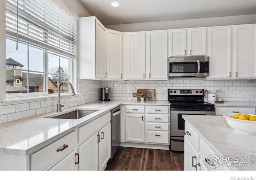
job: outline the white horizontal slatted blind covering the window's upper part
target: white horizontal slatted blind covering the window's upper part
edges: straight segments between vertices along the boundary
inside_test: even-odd
[[[76,57],[76,18],[54,0],[6,0],[6,36]]]

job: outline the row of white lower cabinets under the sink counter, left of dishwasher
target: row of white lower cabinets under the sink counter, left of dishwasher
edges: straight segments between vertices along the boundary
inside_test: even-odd
[[[104,170],[111,154],[110,112],[30,155],[30,170]]]

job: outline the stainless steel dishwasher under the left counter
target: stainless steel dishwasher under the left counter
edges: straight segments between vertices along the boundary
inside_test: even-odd
[[[111,110],[111,159],[120,146],[120,120],[121,106]]]

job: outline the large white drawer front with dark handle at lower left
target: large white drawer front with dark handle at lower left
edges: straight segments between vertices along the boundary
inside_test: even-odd
[[[31,154],[31,170],[48,170],[58,160],[66,156],[70,150],[74,149],[78,143],[77,137],[78,133],[77,130],[75,130],[45,148]],[[64,144],[66,146],[64,146]],[[57,149],[62,150],[57,151]]]

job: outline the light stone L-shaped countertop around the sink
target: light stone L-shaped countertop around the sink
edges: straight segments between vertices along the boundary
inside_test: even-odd
[[[110,100],[97,101],[72,108],[62,112],[50,112],[39,116],[0,124],[0,153],[31,154],[40,148],[58,140],[75,129],[92,122],[96,118],[110,112],[120,104],[125,105],[170,105],[168,101],[133,101]],[[77,108],[98,110],[78,120],[44,118],[53,114],[63,114]]]

